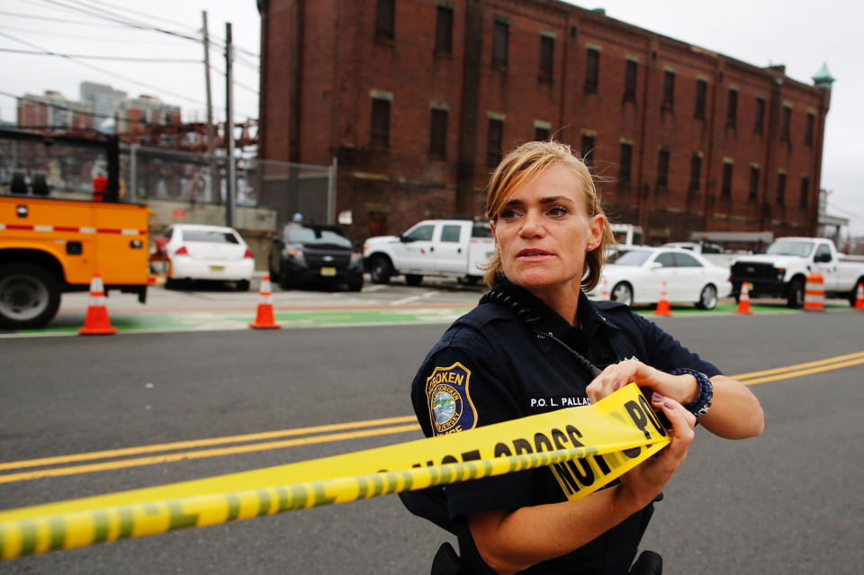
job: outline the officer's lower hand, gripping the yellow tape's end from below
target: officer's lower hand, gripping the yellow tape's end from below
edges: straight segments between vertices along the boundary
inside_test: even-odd
[[[687,450],[696,436],[693,431],[696,417],[678,401],[655,392],[652,404],[654,409],[662,409],[669,418],[671,429],[667,430],[667,433],[671,442],[653,457],[621,476],[622,490],[626,497],[635,499],[642,507],[653,501],[663,490],[663,486],[687,457]]]

